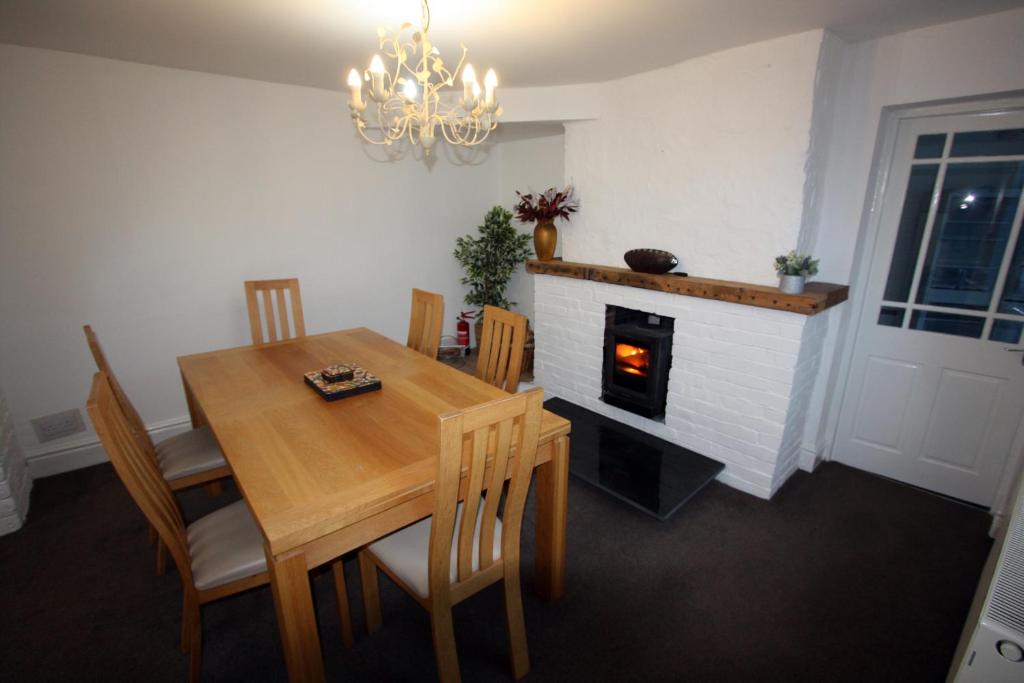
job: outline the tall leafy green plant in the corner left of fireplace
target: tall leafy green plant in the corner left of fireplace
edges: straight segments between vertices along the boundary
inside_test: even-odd
[[[469,286],[466,303],[470,306],[515,305],[505,297],[512,273],[529,258],[529,234],[512,226],[512,212],[496,206],[477,227],[479,237],[466,234],[455,241],[455,258],[466,271],[463,285]],[[476,343],[480,343],[483,317],[476,318]]]

